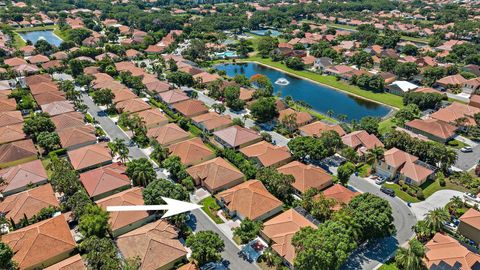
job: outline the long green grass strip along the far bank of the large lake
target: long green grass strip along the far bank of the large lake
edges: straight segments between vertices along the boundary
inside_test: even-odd
[[[400,96],[390,94],[390,93],[374,93],[372,91],[363,90],[355,85],[350,85],[348,83],[338,81],[334,76],[325,76],[318,73],[314,73],[311,71],[306,70],[293,70],[291,68],[286,67],[281,62],[274,62],[269,58],[261,58],[257,56],[252,56],[247,59],[246,61],[253,61],[258,62],[260,64],[264,64],[266,66],[270,66],[273,68],[280,69],[284,72],[288,72],[292,75],[296,75],[298,77],[303,77],[306,79],[310,79],[312,81],[328,85],[333,88],[337,88],[339,90],[351,93],[353,95],[357,95],[366,99],[370,99],[372,101],[376,101],[382,104],[389,105],[395,108],[402,108],[403,107],[403,99]]]

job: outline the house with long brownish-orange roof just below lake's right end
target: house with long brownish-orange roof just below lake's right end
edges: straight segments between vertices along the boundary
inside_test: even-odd
[[[457,130],[454,125],[432,118],[414,119],[406,122],[405,128],[439,143],[447,143],[452,140]]]

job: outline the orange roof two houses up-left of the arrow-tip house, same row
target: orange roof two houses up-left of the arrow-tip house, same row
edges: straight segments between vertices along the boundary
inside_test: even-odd
[[[197,164],[215,157],[214,152],[198,137],[173,144],[168,150],[170,155],[180,157],[185,165]]]

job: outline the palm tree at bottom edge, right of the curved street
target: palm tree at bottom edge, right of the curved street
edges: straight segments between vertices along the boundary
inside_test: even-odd
[[[395,255],[395,262],[400,269],[405,270],[421,270],[425,269],[423,264],[423,256],[425,255],[425,249],[423,245],[416,239],[409,242],[410,247],[399,248]]]

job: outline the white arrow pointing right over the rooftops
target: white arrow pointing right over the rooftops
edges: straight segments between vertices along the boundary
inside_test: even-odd
[[[178,215],[183,212],[192,211],[202,208],[201,205],[193,204],[189,202],[174,200],[170,198],[162,197],[167,203],[163,205],[125,205],[125,206],[107,206],[108,212],[122,212],[122,211],[158,211],[167,210],[162,218]]]

